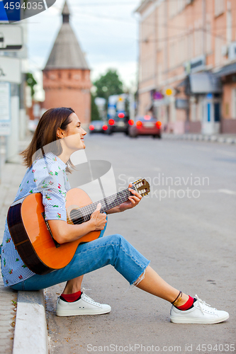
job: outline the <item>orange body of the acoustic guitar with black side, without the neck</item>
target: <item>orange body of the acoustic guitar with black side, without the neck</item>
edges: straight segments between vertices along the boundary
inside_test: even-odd
[[[55,244],[44,219],[41,193],[28,195],[23,202],[13,203],[9,208],[9,232],[21,259],[36,274],[47,274],[64,268],[73,258],[77,246],[82,242],[98,239],[101,231],[89,232],[77,241]],[[84,190],[72,188],[67,192],[67,222],[73,224],[72,210],[91,204]]]

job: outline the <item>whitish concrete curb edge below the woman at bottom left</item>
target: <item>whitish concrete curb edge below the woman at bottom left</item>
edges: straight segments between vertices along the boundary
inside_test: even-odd
[[[13,354],[48,354],[43,290],[19,291]]]

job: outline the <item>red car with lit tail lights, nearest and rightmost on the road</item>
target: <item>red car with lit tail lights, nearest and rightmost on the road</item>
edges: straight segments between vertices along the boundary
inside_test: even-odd
[[[128,135],[137,137],[137,135],[152,135],[152,137],[161,138],[162,122],[159,122],[150,115],[138,116],[135,120],[128,121]]]

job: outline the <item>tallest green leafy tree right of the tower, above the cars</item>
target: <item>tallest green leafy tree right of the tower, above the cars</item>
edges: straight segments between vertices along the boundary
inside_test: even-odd
[[[96,87],[96,97],[105,98],[106,103],[108,103],[109,96],[123,93],[123,83],[115,69],[108,69],[105,75],[101,75],[94,82],[94,86]]]

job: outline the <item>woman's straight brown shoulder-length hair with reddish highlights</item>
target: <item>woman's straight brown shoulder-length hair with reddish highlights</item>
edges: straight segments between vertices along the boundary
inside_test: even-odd
[[[69,117],[72,113],[74,113],[72,108],[65,107],[50,108],[43,113],[32,141],[29,146],[21,152],[23,162],[27,167],[32,165],[33,158],[36,159],[38,156],[42,155],[42,149],[43,154],[49,151],[57,156],[62,154],[62,147],[58,142],[60,138],[57,137],[57,129],[61,128],[62,130],[67,130],[67,125],[72,121]],[[53,142],[55,142],[55,144],[53,144]],[[50,147],[50,150],[48,150],[47,147]],[[74,167],[70,159],[67,164]]]

